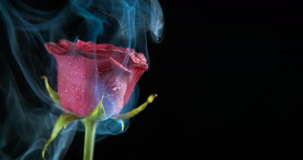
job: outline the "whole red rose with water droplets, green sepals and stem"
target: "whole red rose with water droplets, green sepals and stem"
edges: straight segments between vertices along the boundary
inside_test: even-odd
[[[148,68],[144,54],[136,53],[134,49],[93,42],[72,43],[65,39],[57,44],[46,43],[45,47],[56,58],[58,68],[58,93],[49,86],[47,77],[42,76],[46,90],[55,103],[61,103],[71,112],[61,114],[54,122],[42,151],[44,159],[48,145],[60,130],[79,119],[85,126],[84,159],[92,159],[92,144],[99,120],[109,117],[119,121],[123,131],[123,119],[140,113],[157,96],[152,94],[136,109],[118,115]]]

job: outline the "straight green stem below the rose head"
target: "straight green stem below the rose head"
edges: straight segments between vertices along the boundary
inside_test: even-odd
[[[83,119],[85,125],[85,139],[84,139],[84,155],[83,160],[93,159],[94,136],[96,133],[97,121]]]

